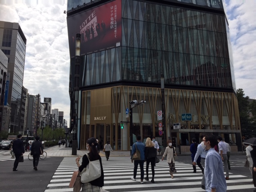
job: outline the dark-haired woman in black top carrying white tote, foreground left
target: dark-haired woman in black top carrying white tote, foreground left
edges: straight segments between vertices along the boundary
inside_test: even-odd
[[[90,161],[100,160],[101,176],[93,181],[82,184],[82,192],[100,192],[104,186],[104,172],[101,162],[101,157],[98,154],[96,146],[98,145],[96,138],[91,137],[86,142],[86,149],[89,151],[88,156]],[[89,164],[89,159],[85,154],[82,158],[82,164],[79,164],[80,157],[76,158],[76,164],[80,172]]]

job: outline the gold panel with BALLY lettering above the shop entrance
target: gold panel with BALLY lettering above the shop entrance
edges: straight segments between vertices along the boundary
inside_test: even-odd
[[[109,123],[111,114],[111,88],[92,90],[90,123]]]

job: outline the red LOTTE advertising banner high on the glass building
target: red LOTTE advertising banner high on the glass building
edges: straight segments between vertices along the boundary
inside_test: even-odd
[[[121,46],[121,0],[67,18],[70,57],[75,56],[76,34],[81,34],[81,56]]]

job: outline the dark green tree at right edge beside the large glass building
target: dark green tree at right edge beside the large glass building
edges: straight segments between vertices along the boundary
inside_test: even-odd
[[[250,102],[248,101],[249,97],[244,96],[244,91],[241,88],[236,90],[236,95],[238,101],[242,136],[244,136],[245,138],[255,137],[255,126],[253,126],[250,119]]]

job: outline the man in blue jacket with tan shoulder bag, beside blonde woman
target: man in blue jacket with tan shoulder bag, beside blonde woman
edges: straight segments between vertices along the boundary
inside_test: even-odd
[[[134,170],[133,170],[133,177],[132,180],[136,181],[136,175],[137,175],[137,169],[138,165],[140,164],[140,183],[143,184],[143,178],[144,178],[144,160],[145,160],[145,144],[141,142],[141,136],[138,135],[136,137],[137,142],[132,145],[132,156],[137,150],[140,151],[140,160],[132,160],[134,162]],[[131,159],[132,159],[131,156]]]

